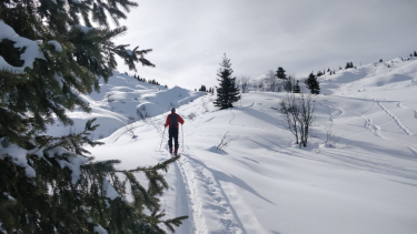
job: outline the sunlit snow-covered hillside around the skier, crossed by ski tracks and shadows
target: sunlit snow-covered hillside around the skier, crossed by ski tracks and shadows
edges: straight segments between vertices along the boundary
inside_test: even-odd
[[[133,123],[137,138],[121,128],[89,150],[97,160],[121,160],[126,169],[163,161],[170,155],[162,112],[169,102],[182,104],[182,156],[167,173],[170,189],[161,197],[169,216],[190,216],[178,233],[414,234],[417,60],[393,61],[390,68],[377,63],[320,78],[326,95],[317,96],[307,149],[292,145],[274,109],[284,93],[245,93],[236,108],[219,111],[212,95],[110,82],[102,90],[116,101],[91,96],[92,115],[108,118],[106,128],[141,105],[152,118]],[[111,106],[118,115],[100,112]],[[325,145],[330,126],[338,138],[332,147]],[[218,151],[227,132],[232,141]]]

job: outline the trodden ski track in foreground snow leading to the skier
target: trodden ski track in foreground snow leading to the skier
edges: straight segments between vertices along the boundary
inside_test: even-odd
[[[216,233],[222,234],[246,233],[220,182],[210,170],[188,154],[182,154],[177,164],[189,199],[195,233],[209,233],[210,227],[218,227]]]

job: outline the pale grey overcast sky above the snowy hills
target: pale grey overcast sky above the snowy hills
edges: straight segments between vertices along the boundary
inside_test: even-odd
[[[153,49],[137,74],[161,84],[218,84],[226,52],[235,75],[309,72],[406,57],[417,50],[417,0],[138,0],[117,43]],[[119,62],[120,71],[128,68]]]

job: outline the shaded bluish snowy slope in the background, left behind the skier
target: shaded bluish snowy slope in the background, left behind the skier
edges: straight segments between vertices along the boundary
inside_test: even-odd
[[[57,122],[49,128],[49,134],[62,135],[70,131],[83,130],[86,122],[97,118],[96,124],[100,126],[95,131],[93,139],[109,136],[116,130],[125,126],[129,121],[141,120],[142,116],[156,116],[193,101],[203,95],[201,92],[192,92],[179,87],[166,89],[161,85],[140,82],[127,74],[113,71],[108,83],[100,81],[100,92],[89,95],[80,94],[91,106],[91,113],[73,111],[69,116],[73,120],[72,126],[62,126]]]

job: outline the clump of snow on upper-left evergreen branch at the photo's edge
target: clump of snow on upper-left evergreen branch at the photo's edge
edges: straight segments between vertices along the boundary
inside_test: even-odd
[[[0,20],[0,42],[4,39],[14,41],[14,48],[26,48],[24,52],[20,54],[20,59],[24,62],[22,67],[13,67],[0,55],[0,70],[8,70],[16,74],[21,74],[26,68],[33,68],[36,59],[44,59],[36,41],[19,37],[10,26]]]

